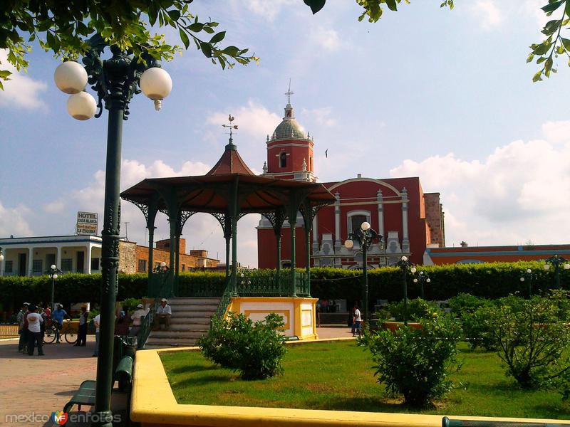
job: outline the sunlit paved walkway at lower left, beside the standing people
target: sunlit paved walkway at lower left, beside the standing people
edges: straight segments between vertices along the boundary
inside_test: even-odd
[[[94,341],[93,336],[88,337],[86,347],[66,342],[45,344],[45,356],[37,356],[37,350],[28,356],[18,352],[17,339],[1,340],[0,425],[53,426],[42,418],[61,411],[83,380],[95,379],[97,358],[91,357]],[[10,418],[13,415],[28,419],[14,422]],[[35,419],[30,418],[34,415]]]

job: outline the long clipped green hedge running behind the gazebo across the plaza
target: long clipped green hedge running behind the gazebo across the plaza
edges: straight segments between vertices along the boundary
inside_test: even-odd
[[[499,298],[514,292],[526,295],[527,282],[520,281],[521,273],[531,268],[537,274],[533,281],[534,292],[554,288],[554,268],[544,270],[539,262],[453,264],[418,268],[430,275],[431,283],[425,285],[427,300],[446,300],[459,292],[467,292],[489,298]],[[258,273],[259,275],[259,273]],[[224,273],[180,273],[179,294],[185,290],[220,288]],[[560,271],[561,287],[570,288],[570,270]],[[56,280],[55,300],[68,307],[71,302],[98,303],[100,299],[100,274],[61,275]],[[313,268],[311,270],[311,295],[322,299],[346,299],[349,303],[362,300],[362,270],[338,268]],[[375,300],[400,300],[403,295],[403,273],[398,268],[376,268],[368,271],[368,297]],[[3,311],[14,311],[21,302],[47,302],[51,292],[48,276],[35,278],[0,277],[0,303]],[[140,298],[147,293],[146,274],[120,274],[118,300]],[[420,286],[408,276],[408,297],[418,297]]]

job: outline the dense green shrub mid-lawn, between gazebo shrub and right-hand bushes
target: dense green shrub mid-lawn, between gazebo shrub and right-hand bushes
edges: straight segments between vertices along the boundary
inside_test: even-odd
[[[420,320],[423,329],[366,332],[361,343],[373,354],[374,375],[390,395],[403,395],[410,406],[426,407],[452,389],[449,374],[461,336],[458,322],[447,316]]]

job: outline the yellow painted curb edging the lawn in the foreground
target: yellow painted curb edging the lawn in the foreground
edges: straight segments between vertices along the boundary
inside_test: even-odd
[[[165,369],[162,366],[159,352],[187,351],[196,348],[137,352],[133,396],[130,404],[130,419],[132,421],[141,423],[143,427],[169,425],[202,427],[441,426],[443,415],[177,404],[172,389],[170,389]],[[464,420],[558,423],[570,426],[570,421],[561,420],[448,416],[452,419]]]

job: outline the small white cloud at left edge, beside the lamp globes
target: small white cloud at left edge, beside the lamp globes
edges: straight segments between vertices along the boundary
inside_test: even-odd
[[[16,68],[8,63],[6,49],[0,49],[0,69],[11,71],[11,80],[4,82],[4,91],[0,90],[0,107],[19,107],[26,110],[46,110],[47,104],[40,93],[47,88],[45,82],[33,80],[16,71]]]

